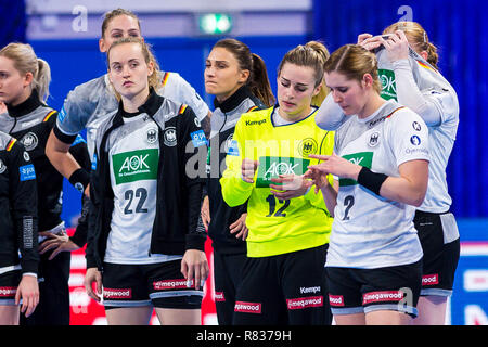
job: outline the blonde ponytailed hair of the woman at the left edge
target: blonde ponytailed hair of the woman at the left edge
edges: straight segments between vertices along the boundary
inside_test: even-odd
[[[15,69],[22,75],[33,74],[33,89],[37,90],[39,101],[46,103],[49,97],[51,68],[44,60],[36,56],[33,47],[28,43],[9,43],[0,50],[0,56],[13,61]]]

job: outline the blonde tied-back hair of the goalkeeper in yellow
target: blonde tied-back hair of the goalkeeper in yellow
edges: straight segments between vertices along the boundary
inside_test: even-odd
[[[278,76],[280,76],[282,68],[286,63],[311,67],[314,72],[314,87],[322,85],[320,92],[312,98],[311,104],[314,106],[320,106],[325,97],[329,94],[329,88],[325,87],[325,82],[323,80],[324,64],[329,56],[329,50],[322,42],[309,41],[305,46],[298,44],[288,51],[281,61],[278,67]]]

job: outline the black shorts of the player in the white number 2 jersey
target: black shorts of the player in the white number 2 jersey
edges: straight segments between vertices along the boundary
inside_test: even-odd
[[[377,269],[325,269],[333,314],[395,310],[416,317],[422,260]]]

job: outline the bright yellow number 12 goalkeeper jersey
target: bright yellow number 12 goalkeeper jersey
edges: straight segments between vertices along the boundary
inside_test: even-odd
[[[310,154],[331,155],[334,133],[316,125],[317,108],[306,118],[274,125],[274,107],[243,114],[227,144],[226,170],[220,179],[229,206],[247,202],[248,257],[268,257],[321,246],[329,242],[333,218],[322,193],[313,187],[303,196],[278,200],[269,179],[280,174],[301,175],[314,165]],[[241,176],[244,158],[259,160],[254,183]],[[332,176],[329,177],[332,183]]]

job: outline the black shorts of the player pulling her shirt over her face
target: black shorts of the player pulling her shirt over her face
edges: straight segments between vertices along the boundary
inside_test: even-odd
[[[450,296],[461,247],[454,216],[418,210],[413,222],[424,252],[421,295]]]

